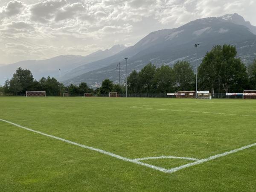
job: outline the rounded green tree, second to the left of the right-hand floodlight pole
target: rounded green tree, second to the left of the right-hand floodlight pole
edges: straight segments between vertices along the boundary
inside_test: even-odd
[[[157,93],[172,93],[174,92],[174,73],[169,65],[162,65],[156,69],[154,75],[154,87]]]

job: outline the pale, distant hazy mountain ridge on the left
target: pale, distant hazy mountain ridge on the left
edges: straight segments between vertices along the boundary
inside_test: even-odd
[[[110,49],[98,50],[87,56],[81,55],[59,55],[50,59],[45,60],[27,60],[19,61],[13,64],[0,64],[0,84],[3,84],[6,79],[12,78],[13,73],[17,70],[18,67],[23,69],[29,69],[35,79],[41,79],[41,77],[54,76],[58,77],[59,69],[61,69],[61,74],[68,73],[68,71],[79,67],[85,66],[93,61],[98,61],[103,58],[115,55],[116,53],[122,51],[126,47],[124,45],[114,45]],[[93,70],[94,68],[89,69]],[[83,72],[85,73],[85,72]],[[69,73],[68,73],[69,74]],[[68,76],[75,77],[78,74],[82,73],[72,73]]]

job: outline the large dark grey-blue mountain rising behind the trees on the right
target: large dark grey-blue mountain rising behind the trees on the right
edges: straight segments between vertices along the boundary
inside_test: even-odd
[[[119,62],[125,64],[123,59],[125,57],[128,57],[128,73],[134,69],[140,70],[148,62],[157,66],[161,64],[172,66],[178,60],[191,62],[195,69],[196,49],[193,47],[195,43],[201,44],[198,47],[199,59],[216,44],[232,44],[236,45],[238,56],[242,61],[249,63],[255,57],[256,35],[245,24],[248,23],[241,25],[234,23],[234,20],[231,22],[221,17],[207,17],[190,21],[175,29],[151,32],[134,46],[91,63],[94,66],[104,63],[105,67],[83,73],[76,78],[66,80],[65,83],[79,84],[81,81],[86,81],[93,85],[107,78],[117,82],[118,76],[114,69]],[[124,74],[122,77],[124,78]]]

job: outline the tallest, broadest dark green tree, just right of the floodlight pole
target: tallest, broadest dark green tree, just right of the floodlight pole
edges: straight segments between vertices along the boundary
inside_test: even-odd
[[[219,92],[241,92],[248,86],[245,65],[236,58],[236,47],[230,45],[215,46],[208,52],[198,67],[199,86],[210,87],[212,94]]]

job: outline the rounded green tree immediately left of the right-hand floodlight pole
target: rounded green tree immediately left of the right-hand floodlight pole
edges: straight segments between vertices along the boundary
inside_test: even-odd
[[[195,90],[195,74],[188,61],[177,61],[173,66],[175,86],[180,91]]]

